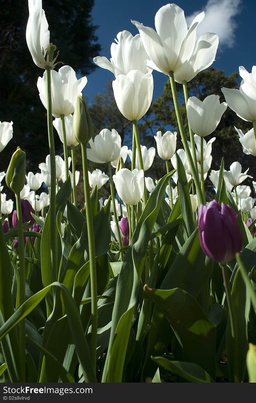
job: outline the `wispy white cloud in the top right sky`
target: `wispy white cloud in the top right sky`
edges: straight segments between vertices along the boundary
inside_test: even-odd
[[[204,11],[205,17],[197,28],[198,36],[206,32],[216,33],[219,35],[220,46],[231,48],[235,42],[235,29],[237,28],[234,17],[239,14],[240,9],[241,0],[208,0],[202,10],[189,15],[186,21],[190,25],[194,17],[200,11]]]

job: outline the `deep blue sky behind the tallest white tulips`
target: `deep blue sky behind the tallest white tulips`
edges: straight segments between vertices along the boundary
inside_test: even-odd
[[[154,28],[155,14],[165,4],[167,2],[159,0],[95,0],[92,17],[93,23],[99,25],[96,34],[102,46],[100,55],[96,56],[110,58],[110,46],[119,31],[126,29],[133,35],[138,33],[131,19]],[[255,0],[179,0],[176,4],[183,8],[187,21],[195,13],[205,11],[205,19],[200,24],[201,33],[214,32],[220,39],[213,67],[224,70],[226,74],[238,72],[240,65],[251,71],[256,64]],[[155,100],[162,93],[167,77],[157,71],[153,72],[153,77]],[[108,80],[114,79],[114,75],[98,67],[87,78],[84,93],[90,102],[96,93],[104,93],[104,87]]]

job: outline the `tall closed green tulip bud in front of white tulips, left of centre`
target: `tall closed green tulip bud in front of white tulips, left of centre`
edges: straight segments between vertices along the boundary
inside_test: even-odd
[[[73,115],[73,133],[79,143],[86,144],[93,135],[92,119],[83,98],[79,95],[75,101]]]

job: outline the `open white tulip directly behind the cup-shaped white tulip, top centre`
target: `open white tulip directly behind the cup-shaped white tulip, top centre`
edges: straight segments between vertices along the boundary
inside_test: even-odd
[[[139,70],[144,74],[151,71],[145,64],[148,55],[140,35],[133,37],[129,31],[122,31],[117,34],[115,41],[116,43],[113,42],[110,48],[110,61],[104,56],[97,56],[94,58],[97,66],[111,71],[115,77],[119,74],[126,75],[131,70]]]

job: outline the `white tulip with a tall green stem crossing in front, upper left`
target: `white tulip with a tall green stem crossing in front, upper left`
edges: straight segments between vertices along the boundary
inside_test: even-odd
[[[86,77],[77,80],[75,71],[70,66],[60,67],[58,73],[51,70],[52,86],[52,115],[60,118],[61,115],[68,116],[75,110],[75,101],[77,96],[87,83]],[[37,88],[40,100],[47,109],[47,87],[46,73],[43,77],[38,77]]]

